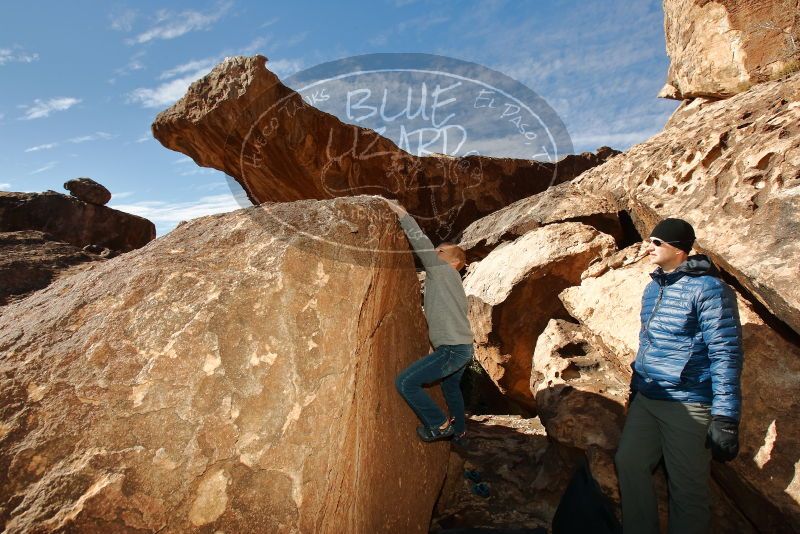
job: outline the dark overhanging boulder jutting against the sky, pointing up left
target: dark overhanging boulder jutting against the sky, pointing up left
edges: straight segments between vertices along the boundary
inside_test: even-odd
[[[254,204],[380,194],[399,199],[431,237],[446,239],[615,153],[602,149],[557,163],[413,156],[373,130],[307,104],[266,61],[227,58],[152,126],[167,148],[235,178]]]

